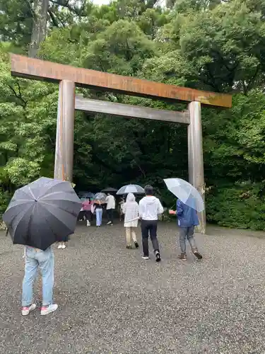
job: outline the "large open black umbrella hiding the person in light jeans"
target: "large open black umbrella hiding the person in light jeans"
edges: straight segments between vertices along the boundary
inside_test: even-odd
[[[16,190],[3,220],[13,244],[45,251],[73,234],[80,209],[71,183],[42,177]]]

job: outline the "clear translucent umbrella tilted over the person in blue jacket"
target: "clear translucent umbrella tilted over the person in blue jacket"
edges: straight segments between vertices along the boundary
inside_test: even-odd
[[[193,185],[181,178],[166,178],[164,181],[168,190],[184,202],[184,204],[192,207],[197,212],[204,210],[204,200]]]

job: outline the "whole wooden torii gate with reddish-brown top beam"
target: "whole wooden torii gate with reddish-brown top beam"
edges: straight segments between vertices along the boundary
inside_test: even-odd
[[[11,55],[11,74],[26,79],[50,81],[59,84],[57,137],[54,178],[72,181],[73,178],[73,124],[74,111],[107,113],[129,118],[146,118],[167,122],[179,122],[188,126],[189,182],[205,195],[204,158],[202,149],[201,104],[230,108],[232,96],[199,91],[174,85],[160,84],[131,76],[121,76],[40,59]],[[75,87],[100,89],[131,96],[184,101],[188,110],[175,112],[155,110],[135,105],[90,100],[76,95]],[[165,176],[166,177],[166,176]],[[206,215],[200,215],[201,233],[206,232]]]

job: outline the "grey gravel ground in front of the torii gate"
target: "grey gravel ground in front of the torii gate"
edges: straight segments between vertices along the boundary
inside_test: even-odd
[[[196,236],[203,261],[186,263],[175,224],[159,235],[155,263],[125,249],[120,225],[79,226],[54,250],[58,312],[22,317],[23,249],[0,234],[0,353],[265,353],[264,234],[210,229]]]

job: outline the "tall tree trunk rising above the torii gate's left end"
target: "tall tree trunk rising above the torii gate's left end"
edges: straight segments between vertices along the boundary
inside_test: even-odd
[[[49,0],[34,1],[33,31],[31,34],[28,56],[35,58],[41,43],[45,40],[47,30]]]

